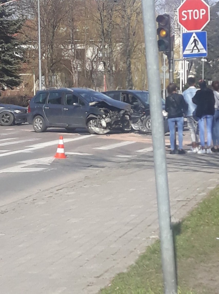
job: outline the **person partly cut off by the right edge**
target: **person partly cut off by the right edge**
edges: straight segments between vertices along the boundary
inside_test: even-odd
[[[213,127],[212,127],[212,139],[213,139],[213,148],[211,151],[218,152],[219,151],[219,81],[213,81],[212,88],[214,90],[214,98],[215,98],[215,114],[213,119]]]

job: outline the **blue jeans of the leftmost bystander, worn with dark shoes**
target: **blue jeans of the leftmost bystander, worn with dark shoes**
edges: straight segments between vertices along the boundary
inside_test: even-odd
[[[182,141],[183,141],[183,117],[176,118],[168,118],[168,126],[170,130],[170,148],[171,150],[175,149],[175,124],[177,123],[178,128],[178,140],[179,140],[179,149],[182,149]]]

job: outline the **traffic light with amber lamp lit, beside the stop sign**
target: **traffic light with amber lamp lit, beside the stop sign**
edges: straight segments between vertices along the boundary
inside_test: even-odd
[[[171,51],[171,38],[170,38],[170,15],[162,14],[158,15],[156,18],[158,22],[158,48],[159,51],[162,52],[170,52]]]

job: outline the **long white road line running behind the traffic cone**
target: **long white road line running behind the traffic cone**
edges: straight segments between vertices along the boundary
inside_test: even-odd
[[[77,138],[67,138],[67,139],[64,139],[64,143],[77,141],[77,140],[83,140],[83,139],[90,138],[92,136],[96,136],[96,135],[86,135],[86,136],[81,136],[81,137],[77,137]],[[38,150],[38,149],[45,148],[45,147],[53,146],[53,145],[56,145],[56,144],[58,145],[58,143],[59,143],[59,140],[39,143],[39,144],[36,144],[36,145],[27,146],[27,147],[31,147],[31,148],[15,150],[15,151],[0,154],[0,157],[12,155],[12,154],[17,154],[17,153],[28,153],[28,152],[32,152],[32,151],[35,151],[35,150]]]

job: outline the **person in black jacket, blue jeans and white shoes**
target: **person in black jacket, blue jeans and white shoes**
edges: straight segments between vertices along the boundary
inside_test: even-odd
[[[215,113],[215,98],[211,89],[207,88],[204,80],[199,81],[200,90],[193,97],[193,103],[197,105],[196,116],[198,116],[199,136],[202,149],[198,154],[212,153],[210,147],[212,142],[212,123]],[[205,149],[205,121],[207,126],[207,148]]]

